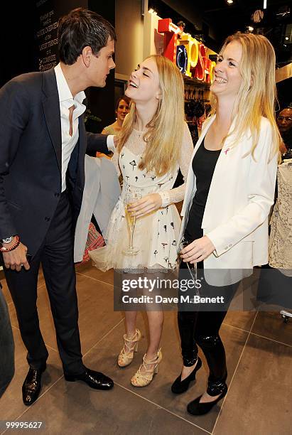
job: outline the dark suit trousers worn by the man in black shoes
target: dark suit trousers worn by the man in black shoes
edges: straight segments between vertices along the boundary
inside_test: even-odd
[[[21,337],[28,350],[28,364],[33,369],[43,367],[48,358],[48,350],[40,332],[36,304],[38,270],[41,263],[63,370],[72,375],[80,375],[85,371],[78,328],[73,247],[72,210],[65,190],[60,195],[45,240],[31,260],[31,269],[21,269],[21,272],[4,270],[16,308]]]

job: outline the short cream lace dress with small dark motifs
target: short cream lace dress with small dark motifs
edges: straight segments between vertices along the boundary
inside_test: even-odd
[[[177,261],[178,234],[180,216],[174,203],[183,200],[185,182],[190,158],[193,153],[193,141],[185,124],[185,132],[180,149],[180,159],[173,171],[163,176],[141,171],[138,166],[142,159],[146,142],[144,132],[133,130],[121,153],[117,151],[112,158],[117,173],[123,176],[123,188],[119,200],[112,212],[104,237],[106,246],[90,252],[94,265],[107,269],[174,269]],[[184,183],[173,189],[178,168],[183,174]],[[139,191],[141,196],[159,193],[163,200],[161,208],[136,220],[134,229],[134,247],[138,254],[129,256],[123,250],[129,247],[129,229],[124,213],[126,191]]]

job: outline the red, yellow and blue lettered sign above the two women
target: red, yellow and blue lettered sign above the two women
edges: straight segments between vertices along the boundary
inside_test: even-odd
[[[216,63],[207,56],[207,47],[175,26],[171,18],[158,21],[158,33],[163,33],[163,55],[178,65],[188,77],[210,83]]]

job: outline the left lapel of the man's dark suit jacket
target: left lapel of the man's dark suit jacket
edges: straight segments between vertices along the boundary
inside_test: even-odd
[[[61,118],[60,118],[60,101],[58,94],[57,81],[55,71],[45,71],[43,73],[43,112],[45,114],[45,122],[50,134],[55,155],[58,162],[60,173],[62,173],[62,134],[61,134]]]

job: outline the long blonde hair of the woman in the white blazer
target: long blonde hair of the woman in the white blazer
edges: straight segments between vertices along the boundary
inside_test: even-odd
[[[234,139],[234,143],[230,144],[230,146],[235,146],[237,139],[242,137],[246,131],[250,131],[252,136],[252,149],[250,152],[254,156],[254,150],[259,141],[261,117],[266,117],[269,119],[273,131],[271,159],[272,156],[279,153],[281,139],[275,117],[275,51],[273,45],[265,36],[237,32],[232,36],[228,36],[220,53],[232,41],[237,41],[242,45],[242,60],[239,63],[242,83],[239,87],[232,114],[232,121],[239,115],[237,124],[234,125],[232,131],[229,131],[224,140],[235,133],[236,139]],[[217,97],[212,95],[211,114],[217,112],[217,104]]]

